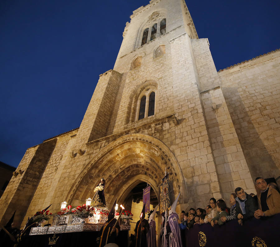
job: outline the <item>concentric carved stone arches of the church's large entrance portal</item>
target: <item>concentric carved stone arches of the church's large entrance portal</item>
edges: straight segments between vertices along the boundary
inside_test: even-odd
[[[170,174],[172,195],[182,193],[181,202],[187,198],[186,186],[180,166],[170,149],[160,140],[144,134],[128,134],[119,137],[104,147],[94,157],[74,182],[67,200],[81,204],[93,189],[100,177],[106,180],[105,197],[107,206],[117,198],[124,200],[139,181],[151,183],[157,198],[160,198],[159,185],[165,175]]]

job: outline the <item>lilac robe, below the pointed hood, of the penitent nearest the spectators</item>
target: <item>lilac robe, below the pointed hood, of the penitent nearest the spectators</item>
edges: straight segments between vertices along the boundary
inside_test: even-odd
[[[173,236],[171,233],[169,235],[169,247],[183,247],[178,219],[177,213],[171,213],[168,216],[170,231],[173,233]]]

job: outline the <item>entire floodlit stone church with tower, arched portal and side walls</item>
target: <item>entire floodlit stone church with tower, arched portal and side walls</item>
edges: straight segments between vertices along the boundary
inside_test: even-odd
[[[184,0],[133,11],[113,70],[100,75],[79,128],[26,150],[0,200],[0,225],[62,201],[83,204],[100,177],[111,206],[165,170],[177,210],[228,199],[280,175],[280,52],[217,72]]]

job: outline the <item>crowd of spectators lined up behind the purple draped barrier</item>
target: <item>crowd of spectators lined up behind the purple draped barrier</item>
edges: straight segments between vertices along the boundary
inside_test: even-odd
[[[190,208],[187,213],[182,211],[179,225],[182,230],[192,228],[195,224],[210,223],[223,225],[230,220],[237,220],[242,225],[250,218],[264,219],[280,213],[280,191],[276,183],[269,183],[262,177],[255,179],[257,195],[247,194],[243,188],[237,187],[229,198],[230,207],[223,199],[210,198],[205,209]]]

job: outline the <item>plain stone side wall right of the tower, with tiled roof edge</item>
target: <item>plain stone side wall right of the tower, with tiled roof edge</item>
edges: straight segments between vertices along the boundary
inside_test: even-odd
[[[219,71],[232,122],[253,176],[280,176],[280,51]],[[279,185],[279,180],[278,180]]]

